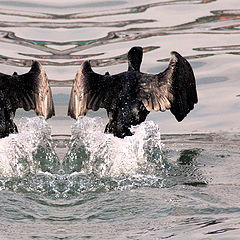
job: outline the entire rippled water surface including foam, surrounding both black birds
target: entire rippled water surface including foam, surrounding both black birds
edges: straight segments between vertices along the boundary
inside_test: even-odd
[[[51,80],[57,116],[18,110],[19,134],[0,139],[0,240],[239,239],[240,81],[238,0],[0,2],[0,71]],[[185,56],[199,103],[182,123],[151,113],[135,135],[103,134],[105,112],[66,116],[72,79],[142,71]],[[22,118],[24,117],[24,118]]]

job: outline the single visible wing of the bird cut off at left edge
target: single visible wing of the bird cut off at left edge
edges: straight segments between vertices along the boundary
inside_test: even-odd
[[[55,115],[52,92],[47,75],[37,61],[34,61],[28,73],[12,76],[0,74],[0,96],[7,102],[8,108],[26,111],[33,109],[37,115],[48,119]]]

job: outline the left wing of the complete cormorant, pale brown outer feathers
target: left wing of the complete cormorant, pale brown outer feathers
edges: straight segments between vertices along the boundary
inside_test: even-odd
[[[77,119],[89,109],[110,109],[122,89],[121,77],[95,73],[89,61],[84,61],[74,79],[68,106],[68,115]],[[119,91],[120,90],[120,91]]]

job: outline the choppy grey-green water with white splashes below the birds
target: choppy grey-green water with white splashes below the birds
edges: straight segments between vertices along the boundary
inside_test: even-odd
[[[109,228],[128,236],[129,226],[134,236],[147,231],[147,239],[201,239],[226,232],[234,239],[240,227],[239,134],[163,135],[161,140],[157,125],[146,122],[123,140],[103,134],[104,124],[98,122],[79,119],[71,139],[51,139],[42,118],[23,119],[14,142],[8,143],[11,136],[1,140],[17,153],[24,137],[33,139],[32,147],[8,158],[9,167],[19,171],[0,178],[4,237],[18,239],[20,225],[26,239],[86,234],[111,239],[115,231]],[[146,223],[154,230],[149,232]]]

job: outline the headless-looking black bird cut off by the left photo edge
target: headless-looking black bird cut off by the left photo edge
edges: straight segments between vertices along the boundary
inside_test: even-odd
[[[37,61],[22,75],[0,73],[0,138],[17,132],[13,119],[18,108],[33,109],[45,119],[55,115],[48,78]]]

